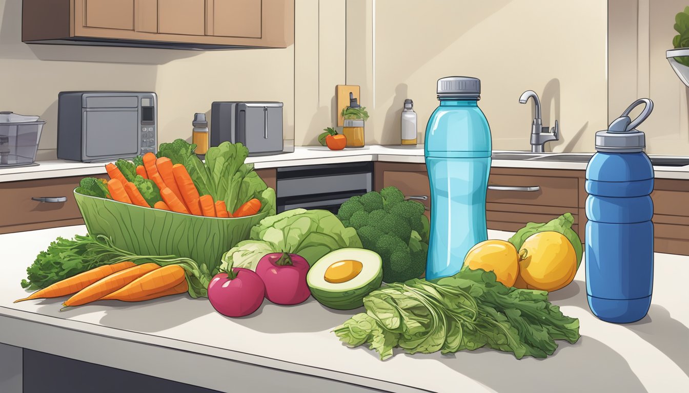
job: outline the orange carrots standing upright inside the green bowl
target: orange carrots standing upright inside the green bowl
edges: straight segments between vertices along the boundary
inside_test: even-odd
[[[105,165],[111,180],[107,189],[112,199],[119,202],[149,207],[136,186],[127,179],[114,164]],[[154,153],[143,156],[143,165],[136,167],[136,174],[153,180],[161,192],[162,201],[154,204],[155,209],[176,211],[177,213],[203,215],[205,217],[245,217],[258,213],[260,200],[253,198],[234,211],[227,211],[225,201],[214,201],[211,195],[199,195],[194,181],[183,164],[172,164],[167,157],[156,158]]]

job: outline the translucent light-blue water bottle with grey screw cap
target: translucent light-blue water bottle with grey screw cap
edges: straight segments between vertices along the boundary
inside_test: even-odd
[[[477,105],[480,93],[477,78],[449,76],[438,80],[440,106],[426,126],[424,147],[431,184],[426,279],[459,272],[469,248],[488,239],[491,129]]]

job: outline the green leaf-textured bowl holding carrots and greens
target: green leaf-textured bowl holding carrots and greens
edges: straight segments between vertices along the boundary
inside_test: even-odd
[[[194,259],[217,273],[223,253],[249,239],[251,227],[269,215],[238,218],[200,217],[82,195],[74,191],[90,235],[105,235],[137,255],[177,255]]]

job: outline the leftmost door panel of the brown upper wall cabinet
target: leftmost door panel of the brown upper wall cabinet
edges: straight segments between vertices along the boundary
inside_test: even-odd
[[[134,0],[81,0],[86,28],[134,30]]]

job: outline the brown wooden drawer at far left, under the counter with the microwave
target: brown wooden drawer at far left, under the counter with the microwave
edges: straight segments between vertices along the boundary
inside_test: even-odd
[[[79,207],[76,206],[73,191],[79,186],[81,179],[81,176],[77,176],[0,183],[0,200],[3,201],[0,204],[0,233],[59,226],[30,225],[45,222],[72,220],[71,225],[79,224],[79,222],[74,222],[74,220],[81,220],[81,213]],[[37,202],[31,199],[40,197],[65,197],[67,201]]]

